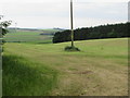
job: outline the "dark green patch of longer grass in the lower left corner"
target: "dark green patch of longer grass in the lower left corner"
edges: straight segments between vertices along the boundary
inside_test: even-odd
[[[16,56],[3,56],[3,96],[47,96],[57,72]]]

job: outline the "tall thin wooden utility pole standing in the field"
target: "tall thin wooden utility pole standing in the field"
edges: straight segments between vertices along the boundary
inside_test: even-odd
[[[72,47],[74,47],[74,25],[73,25],[73,0],[70,0],[70,30],[72,30]]]

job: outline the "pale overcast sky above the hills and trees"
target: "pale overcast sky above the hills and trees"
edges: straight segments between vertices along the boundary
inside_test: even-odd
[[[0,14],[11,26],[69,28],[69,0],[1,0]],[[75,28],[127,21],[128,0],[74,0]]]

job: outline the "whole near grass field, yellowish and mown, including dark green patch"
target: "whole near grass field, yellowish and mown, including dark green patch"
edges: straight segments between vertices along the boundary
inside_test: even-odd
[[[128,96],[128,38],[4,44],[3,96]]]

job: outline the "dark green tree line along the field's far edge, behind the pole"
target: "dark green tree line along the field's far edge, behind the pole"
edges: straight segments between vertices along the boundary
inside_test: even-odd
[[[74,30],[74,40],[129,37],[130,23],[107,24],[95,27],[82,27]],[[70,30],[54,34],[53,42],[70,41]]]

